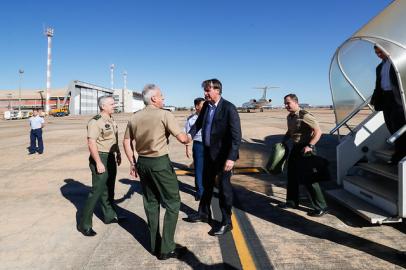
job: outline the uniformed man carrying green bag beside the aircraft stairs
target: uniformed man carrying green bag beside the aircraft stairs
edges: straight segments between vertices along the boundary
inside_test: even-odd
[[[285,108],[289,112],[287,117],[288,131],[284,141],[291,139],[293,148],[288,159],[288,187],[286,203],[278,206],[281,208],[297,208],[299,206],[299,179],[303,177],[300,172],[300,163],[308,152],[315,151],[315,144],[321,137],[321,130],[314,116],[299,107],[299,100],[295,94],[286,95]],[[308,213],[310,216],[320,217],[327,213],[327,204],[317,182],[302,181],[306,187],[310,201],[314,207]]]

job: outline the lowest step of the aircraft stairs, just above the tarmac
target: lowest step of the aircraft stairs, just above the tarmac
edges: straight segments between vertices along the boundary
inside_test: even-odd
[[[344,189],[326,190],[325,193],[332,199],[345,205],[372,224],[393,223],[402,221],[401,218],[393,217],[384,210],[361,200],[357,196]]]

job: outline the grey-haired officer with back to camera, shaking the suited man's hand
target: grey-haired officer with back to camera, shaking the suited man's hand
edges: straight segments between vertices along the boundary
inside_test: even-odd
[[[174,235],[180,208],[179,184],[168,157],[169,136],[190,143],[174,115],[163,110],[161,90],[148,84],[142,91],[146,107],[135,113],[124,135],[124,149],[131,164],[130,175],[140,176],[145,214],[150,232],[151,253],[160,260],[179,258],[186,247],[175,244]],[[138,153],[138,161],[134,157]],[[159,233],[160,204],[165,207],[162,237]]]

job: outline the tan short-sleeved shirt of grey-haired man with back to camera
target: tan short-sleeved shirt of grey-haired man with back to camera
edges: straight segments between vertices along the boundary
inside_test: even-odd
[[[169,136],[181,133],[175,116],[166,110],[148,105],[128,122],[124,138],[135,140],[135,149],[143,157],[160,157],[169,153]]]

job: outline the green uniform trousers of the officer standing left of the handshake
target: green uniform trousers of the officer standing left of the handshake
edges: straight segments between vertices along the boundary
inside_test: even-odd
[[[116,181],[117,165],[114,153],[99,152],[106,171],[97,173],[96,162],[89,157],[89,167],[92,172],[92,189],[89,192],[85,206],[82,211],[82,218],[79,227],[87,230],[92,227],[94,208],[100,200],[104,222],[110,222],[117,217],[114,210],[114,185]]]

